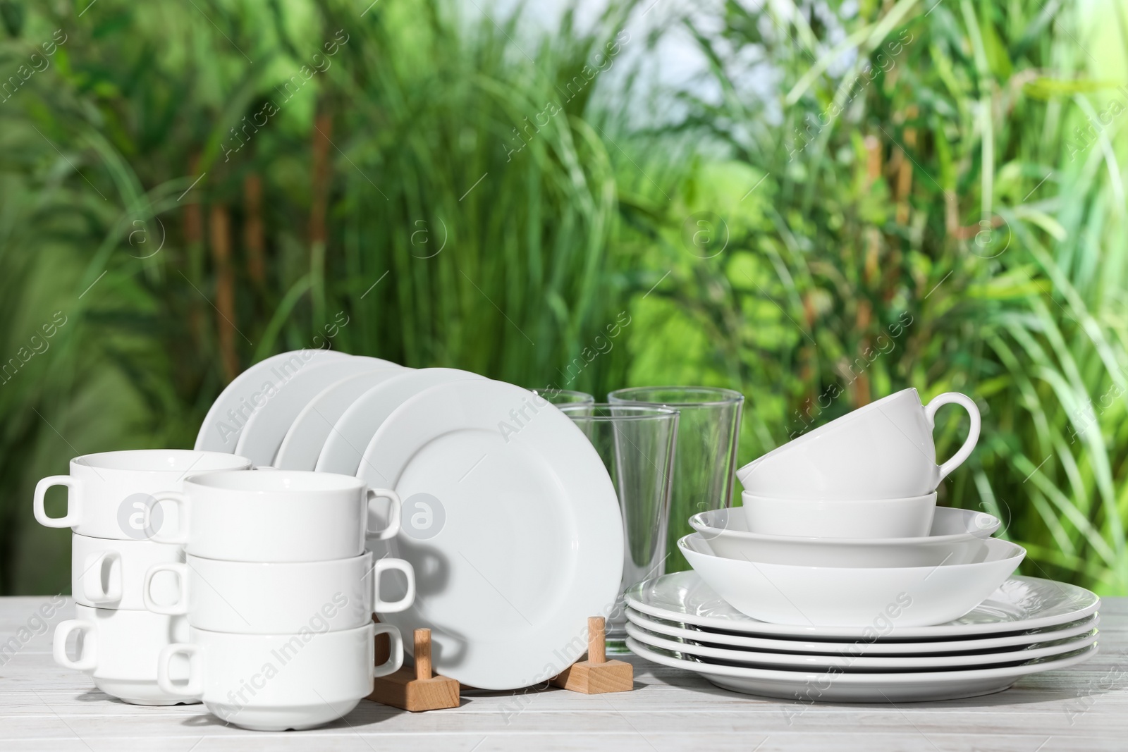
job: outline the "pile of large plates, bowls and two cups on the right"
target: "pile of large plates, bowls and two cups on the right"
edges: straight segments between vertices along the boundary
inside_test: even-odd
[[[936,465],[941,405],[968,439]],[[979,435],[975,402],[915,389],[832,421],[737,471],[743,506],[702,512],[693,572],[626,593],[627,645],[737,691],[802,701],[970,697],[1096,647],[1099,599],[1013,576],[1025,549],[997,517],[936,507]]]

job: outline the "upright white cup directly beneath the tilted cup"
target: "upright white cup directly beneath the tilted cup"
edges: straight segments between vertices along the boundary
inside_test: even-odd
[[[808,538],[922,538],[936,493],[907,498],[773,498],[740,495],[748,532]]]

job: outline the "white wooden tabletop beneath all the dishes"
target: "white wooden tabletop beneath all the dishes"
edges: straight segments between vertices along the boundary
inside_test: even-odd
[[[0,651],[47,600],[0,599]],[[967,700],[803,706],[726,692],[632,656],[633,692],[470,693],[457,709],[415,715],[362,700],[335,724],[279,734],[224,726],[201,705],[109,699],[52,661],[54,625],[72,611],[68,603],[15,655],[0,653],[0,752],[1128,750],[1128,598],[1105,599],[1101,653],[1090,662]]]

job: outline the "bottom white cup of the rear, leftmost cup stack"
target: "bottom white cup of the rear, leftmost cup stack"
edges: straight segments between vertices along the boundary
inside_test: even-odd
[[[74,605],[74,616],[55,627],[52,645],[55,663],[90,674],[103,692],[133,705],[199,702],[157,685],[157,658],[161,651],[188,637],[184,617],[95,609],[81,603]],[[67,638],[71,632],[82,635],[81,653],[73,661],[67,655]],[[171,664],[169,671],[171,676],[187,679],[187,665],[183,662]]]

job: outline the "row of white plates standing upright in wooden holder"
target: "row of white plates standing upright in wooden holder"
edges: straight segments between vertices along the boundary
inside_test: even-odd
[[[282,353],[228,384],[196,449],[394,490],[399,533],[368,548],[409,561],[418,595],[380,621],[408,636],[430,628],[432,665],[462,684],[550,679],[583,654],[588,617],[616,602],[623,523],[607,469],[571,418],[520,387],[333,351]],[[373,516],[388,515],[376,506]],[[381,583],[385,600],[404,594],[394,577]]]

